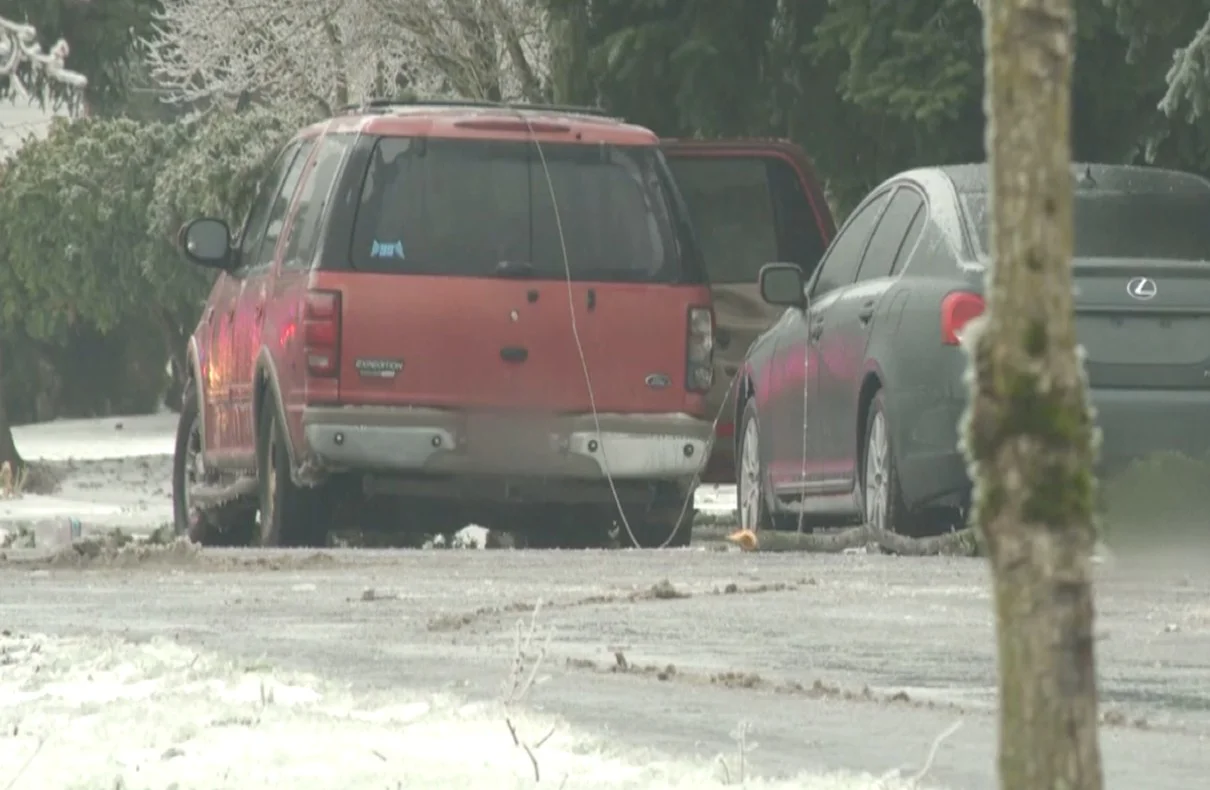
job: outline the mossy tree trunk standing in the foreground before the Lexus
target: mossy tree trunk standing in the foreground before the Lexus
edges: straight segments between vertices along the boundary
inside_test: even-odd
[[[1001,786],[1093,790],[1094,426],[1072,316],[1072,0],[986,0],[993,266],[964,444],[992,565]]]

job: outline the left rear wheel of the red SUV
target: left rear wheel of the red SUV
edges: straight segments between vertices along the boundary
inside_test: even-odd
[[[289,436],[275,406],[260,419],[257,474],[260,488],[260,546],[325,546],[330,500],[322,488],[290,478]]]

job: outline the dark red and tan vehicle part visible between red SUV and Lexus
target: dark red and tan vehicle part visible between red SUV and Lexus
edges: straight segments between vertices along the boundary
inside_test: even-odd
[[[714,295],[715,384],[707,404],[713,416],[748,347],[783,312],[760,298],[760,267],[797,264],[809,278],[836,224],[811,161],[793,143],[666,140],[662,148],[688,203]],[[722,415],[719,436],[734,432],[730,416]],[[716,459],[730,451],[730,442],[715,444]],[[705,479],[732,482],[728,466],[711,463]]]

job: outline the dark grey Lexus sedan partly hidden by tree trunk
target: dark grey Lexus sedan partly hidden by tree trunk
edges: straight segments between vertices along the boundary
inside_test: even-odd
[[[736,376],[748,529],[870,523],[909,535],[961,523],[963,328],[984,311],[986,165],[891,178],[813,269],[768,264],[780,319]],[[1073,165],[1077,334],[1101,462],[1210,449],[1210,181]]]

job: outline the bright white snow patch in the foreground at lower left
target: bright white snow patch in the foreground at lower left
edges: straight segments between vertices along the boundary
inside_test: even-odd
[[[536,742],[557,722],[519,715],[514,723]],[[716,763],[623,754],[564,726],[534,754],[542,784],[554,788],[725,786]],[[424,694],[357,697],[317,677],[241,669],[173,642],[0,638],[0,786],[534,785],[532,766],[513,744],[496,704]],[[832,773],[785,782],[749,778],[745,786],[914,785]]]

